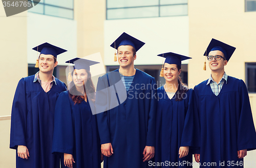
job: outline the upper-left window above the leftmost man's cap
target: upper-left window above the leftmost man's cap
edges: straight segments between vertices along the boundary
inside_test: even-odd
[[[34,0],[38,2],[38,0]],[[73,0],[41,0],[36,6],[28,10],[29,12],[44,15],[74,19]]]

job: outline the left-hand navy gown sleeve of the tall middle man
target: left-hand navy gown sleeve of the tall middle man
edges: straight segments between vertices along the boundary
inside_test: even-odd
[[[97,123],[98,123],[98,130],[99,130],[99,137],[100,137],[100,144],[104,143],[111,143],[110,139],[110,130],[108,124],[108,111],[100,112],[103,109],[108,109],[108,93],[105,89],[106,86],[101,77],[99,77],[97,83],[97,91],[96,91],[96,110],[97,110]]]

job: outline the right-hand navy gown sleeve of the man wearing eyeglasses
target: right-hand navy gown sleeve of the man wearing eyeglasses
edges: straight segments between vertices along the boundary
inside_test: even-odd
[[[247,151],[251,151],[256,149],[256,133],[249,95],[243,80],[240,80],[239,89],[241,113],[238,126],[238,150],[247,149]]]

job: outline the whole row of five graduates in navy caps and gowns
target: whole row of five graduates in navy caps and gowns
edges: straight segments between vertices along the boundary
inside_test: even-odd
[[[192,167],[193,154],[201,167],[243,167],[247,151],[256,149],[256,132],[245,83],[224,71],[236,48],[212,39],[204,53],[210,78],[193,90],[179,77],[181,61],[190,57],[158,55],[165,58],[159,88],[134,68],[144,44],[119,36],[111,46],[120,67],[99,77],[96,92],[90,66],[98,62],[67,61],[74,64],[67,90],[53,76],[66,50],[36,46],[39,71],[19,81],[12,105],[16,167],[99,168],[103,160],[104,168]]]

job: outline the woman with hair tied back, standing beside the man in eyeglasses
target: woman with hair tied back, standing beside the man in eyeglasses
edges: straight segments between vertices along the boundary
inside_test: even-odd
[[[166,59],[160,73],[165,84],[157,89],[155,162],[157,167],[192,167],[189,147],[198,146],[193,137],[193,90],[188,89],[179,76],[181,61],[190,57],[175,53],[158,56]]]

